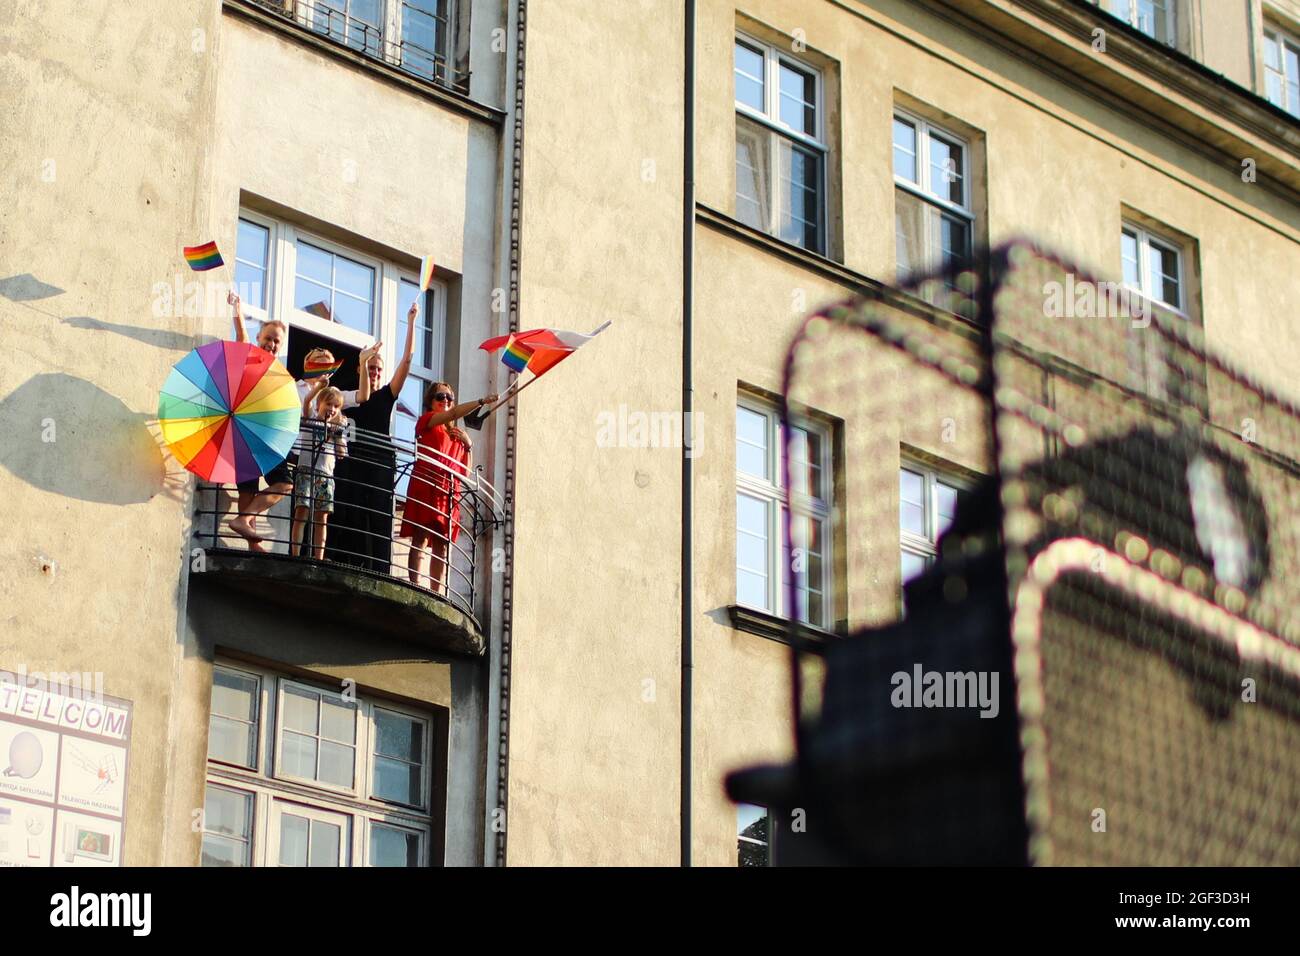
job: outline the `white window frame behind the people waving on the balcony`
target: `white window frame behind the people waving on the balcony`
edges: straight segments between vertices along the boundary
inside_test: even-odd
[[[391,369],[396,364],[398,358],[402,355],[402,349],[406,346],[406,342],[396,341],[398,281],[406,278],[407,281],[419,285],[419,277],[411,268],[386,259],[377,259],[373,255],[358,252],[356,250],[334,242],[333,239],[300,229],[292,222],[277,220],[252,209],[240,208],[239,219],[247,219],[250,222],[256,222],[257,225],[265,226],[270,230],[270,254],[268,255],[266,273],[268,304],[264,310],[244,308],[244,319],[248,321],[256,320],[259,323],[278,319],[289,326],[289,334],[285,337],[285,342],[281,346],[285,350],[285,352],[281,354],[281,359],[283,359],[283,355],[287,354],[289,339],[292,338],[294,329],[296,328],[333,339],[352,349],[365,349],[376,341],[382,341],[384,350],[381,354],[384,356],[384,367],[386,369]],[[325,248],[335,255],[347,256],[348,259],[359,261],[376,271],[374,334],[368,336],[363,332],[352,329],[351,326],[343,325],[342,323],[326,321],[318,316],[294,307],[294,287],[298,278],[299,239],[309,242],[313,246],[320,246],[321,248]],[[238,247],[235,251],[238,255]],[[421,368],[419,369],[419,377],[422,378],[428,375],[432,380],[437,380],[445,375],[441,365],[446,362],[447,349],[447,284],[436,278],[430,284],[429,291],[433,294],[430,320],[433,321],[434,352],[437,362],[439,363],[439,368]],[[250,332],[250,337],[255,338],[255,332]],[[412,365],[412,371],[417,369]]]

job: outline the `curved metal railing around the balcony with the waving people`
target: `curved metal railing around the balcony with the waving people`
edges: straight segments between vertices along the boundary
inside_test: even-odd
[[[304,419],[303,432],[286,464],[292,490],[254,516],[256,541],[231,528],[242,515],[235,485],[200,483],[195,501],[195,544],[202,548],[252,550],[351,566],[389,575],[438,594],[476,617],[476,571],[480,542],[504,519],[504,503],[482,475],[413,442],[351,425]],[[346,454],[335,455],[332,498],[312,479],[326,477],[325,455],[342,433]],[[335,446],[337,449],[337,446]],[[268,488],[259,485],[257,494]],[[247,507],[256,498],[244,496]],[[412,501],[428,506],[422,520],[408,511]],[[425,509],[420,509],[425,511]],[[317,514],[326,512],[324,522]],[[317,550],[316,532],[324,531]],[[422,541],[421,541],[422,538]],[[488,550],[490,554],[490,548]],[[412,554],[419,562],[412,562]],[[438,567],[442,558],[443,567]]]

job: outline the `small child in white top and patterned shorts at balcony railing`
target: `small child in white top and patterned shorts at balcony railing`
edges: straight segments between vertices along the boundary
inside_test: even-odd
[[[316,402],[315,418],[312,401]],[[298,432],[298,467],[294,470],[294,525],[290,549],[298,554],[303,525],[312,515],[312,553],[325,557],[325,531],[334,511],[334,463],[347,455],[343,393],[318,378],[303,398],[303,423]]]

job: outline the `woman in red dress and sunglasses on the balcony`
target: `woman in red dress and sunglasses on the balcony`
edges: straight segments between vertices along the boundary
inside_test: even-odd
[[[420,457],[411,470],[402,528],[398,537],[411,538],[407,571],[412,584],[428,581],[425,587],[443,592],[442,580],[447,567],[447,545],[460,533],[460,505],[455,502],[456,480],[454,472],[469,471],[469,436],[454,424],[472,411],[497,401],[485,395],[477,402],[456,405],[456,394],[445,382],[434,382],[424,393],[424,415],[415,424],[415,437]],[[432,554],[429,574],[424,575],[424,555]]]

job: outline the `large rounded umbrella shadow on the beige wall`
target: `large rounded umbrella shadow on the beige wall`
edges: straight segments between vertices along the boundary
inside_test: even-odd
[[[38,375],[0,399],[0,467],[68,498],[139,505],[166,479],[150,420],[83,378]]]

